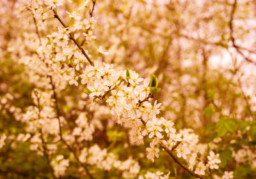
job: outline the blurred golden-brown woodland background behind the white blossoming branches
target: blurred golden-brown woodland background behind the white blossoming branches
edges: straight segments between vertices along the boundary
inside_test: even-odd
[[[35,72],[36,66],[27,68],[20,62],[31,50],[20,38],[21,33],[30,32],[19,31],[24,27],[29,29],[29,24],[19,18],[22,3],[0,0],[0,131],[9,138],[0,149],[0,178],[51,178],[44,157],[31,152],[29,142],[19,142],[19,138],[24,138],[20,134],[26,131],[20,114],[33,105],[31,93],[42,82]],[[69,10],[72,6],[65,4],[59,13],[64,15]],[[256,110],[256,1],[97,0],[93,17],[97,20],[93,29],[97,39],[85,43],[86,50],[94,56],[97,47],[105,47],[109,55],[99,55],[99,61],[132,69],[143,78],[155,74],[161,91],[154,98],[163,103],[161,116],[180,129],[193,129],[202,143],[214,139],[215,143],[221,143],[219,152],[229,156],[222,157],[221,169],[234,170],[235,178],[256,177],[255,143],[251,143],[255,142],[256,130],[245,129],[255,121]],[[48,30],[40,31],[47,34]],[[25,47],[12,49],[22,43]],[[67,131],[74,128],[77,111],[86,111],[88,118],[91,115],[102,125],[93,134],[93,141],[83,145],[111,146],[108,149],[120,159],[132,155],[140,161],[141,169],[174,172],[177,165],[164,158],[164,154],[153,164],[147,161],[145,148],[131,145],[128,131],[111,123],[108,108],[99,104],[100,111],[89,110],[84,102],[86,96],[81,93],[83,87],[68,85],[60,90],[59,103],[60,113],[69,126]],[[220,140],[214,127],[225,117],[249,123],[244,124],[244,131],[237,129],[235,134],[227,134]],[[234,138],[239,138],[236,145],[232,143]],[[124,142],[131,147],[125,147]],[[236,159],[239,150],[244,153]],[[62,154],[68,155],[65,149]],[[178,170],[178,178],[193,178],[181,168]],[[62,178],[86,178],[81,173],[71,161],[67,175]],[[99,175],[104,177],[122,178],[122,173]]]

